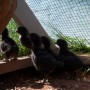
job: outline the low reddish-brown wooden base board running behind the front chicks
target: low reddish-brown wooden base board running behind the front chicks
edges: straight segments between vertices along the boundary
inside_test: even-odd
[[[79,55],[79,56],[82,58],[83,62],[90,65],[90,56],[88,55]],[[33,66],[33,64],[29,56],[19,57],[18,60],[7,62],[7,63],[1,60],[0,75],[8,72],[16,71],[16,70],[28,68],[30,66]]]

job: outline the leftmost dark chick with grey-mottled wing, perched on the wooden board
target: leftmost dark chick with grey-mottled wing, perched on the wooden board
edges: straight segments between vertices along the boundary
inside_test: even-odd
[[[16,44],[16,42],[9,37],[8,29],[5,28],[2,32],[2,40],[1,40],[1,52],[5,56],[5,61],[16,60],[18,53],[19,53],[19,47]]]

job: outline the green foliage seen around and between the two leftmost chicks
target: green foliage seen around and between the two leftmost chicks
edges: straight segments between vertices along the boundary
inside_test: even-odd
[[[18,25],[15,23],[13,19],[10,20],[10,22],[7,25],[7,28],[9,30],[9,35],[12,39],[16,41],[16,43],[19,46],[19,55],[18,56],[25,56],[30,54],[30,50],[25,48],[24,46],[21,45],[20,43],[20,35],[16,33]],[[0,59],[3,59],[3,55],[0,53]]]

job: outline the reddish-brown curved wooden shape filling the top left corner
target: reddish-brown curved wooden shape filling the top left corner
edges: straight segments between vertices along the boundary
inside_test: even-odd
[[[0,0],[0,33],[4,30],[17,6],[17,0]]]

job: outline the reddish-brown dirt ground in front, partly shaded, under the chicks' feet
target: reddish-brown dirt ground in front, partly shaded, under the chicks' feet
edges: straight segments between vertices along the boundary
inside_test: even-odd
[[[48,83],[39,83],[40,74],[34,67],[14,71],[0,76],[0,90],[90,90],[90,74],[82,77],[80,72],[75,80],[54,73]]]

